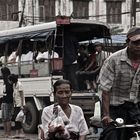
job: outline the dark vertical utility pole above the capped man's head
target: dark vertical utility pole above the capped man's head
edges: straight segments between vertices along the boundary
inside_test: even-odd
[[[130,27],[136,26],[136,0],[132,0],[130,12]]]

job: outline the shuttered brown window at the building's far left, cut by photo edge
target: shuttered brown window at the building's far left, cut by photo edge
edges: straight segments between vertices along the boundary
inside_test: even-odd
[[[0,0],[0,20],[18,20],[18,1]]]

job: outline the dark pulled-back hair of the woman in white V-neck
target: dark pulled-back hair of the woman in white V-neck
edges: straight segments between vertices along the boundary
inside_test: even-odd
[[[62,84],[68,84],[68,85],[70,85],[70,89],[72,89],[72,85],[71,85],[71,82],[69,80],[60,79],[60,80],[57,80],[53,85],[54,93],[56,93],[57,86],[60,86]]]

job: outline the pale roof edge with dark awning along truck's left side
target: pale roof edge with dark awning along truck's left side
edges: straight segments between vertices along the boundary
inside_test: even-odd
[[[0,32],[0,43],[19,39],[46,39],[54,30],[56,30],[55,22],[4,30]]]

